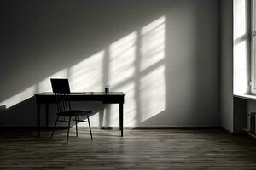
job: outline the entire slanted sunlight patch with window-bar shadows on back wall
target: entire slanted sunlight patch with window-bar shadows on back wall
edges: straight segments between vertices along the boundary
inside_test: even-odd
[[[30,117],[29,121],[24,120],[24,124],[22,119],[15,119],[15,124],[36,126],[36,108],[35,105],[31,107],[32,102],[35,102],[33,94],[52,91],[49,82],[51,77],[68,78],[73,92],[102,91],[108,84],[111,91],[124,92],[125,126],[137,126],[165,111],[165,22],[165,16],[161,16],[96,54],[84,57],[79,63],[63,68],[9,99],[1,101],[0,117],[6,122],[1,126],[9,125],[8,121],[4,121],[8,120],[7,117],[14,119]],[[100,113],[91,117],[92,125],[119,126],[117,105],[86,103],[86,109]],[[74,105],[84,108],[84,103],[74,103]],[[50,108],[50,112],[54,111],[55,108]],[[51,124],[54,118],[50,119]]]

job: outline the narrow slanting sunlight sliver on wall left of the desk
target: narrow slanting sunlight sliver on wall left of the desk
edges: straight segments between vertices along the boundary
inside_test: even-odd
[[[26,88],[24,91],[20,92],[19,94],[15,94],[9,99],[4,100],[3,102],[0,103],[0,105],[5,105],[6,109],[8,109],[13,105],[19,104],[20,102],[31,98],[34,94],[36,94],[36,87],[31,86],[30,88]]]

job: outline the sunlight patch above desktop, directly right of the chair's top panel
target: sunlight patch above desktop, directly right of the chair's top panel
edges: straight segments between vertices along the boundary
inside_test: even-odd
[[[73,65],[69,71],[69,84],[71,91],[102,91],[104,51],[100,51],[77,65]]]

